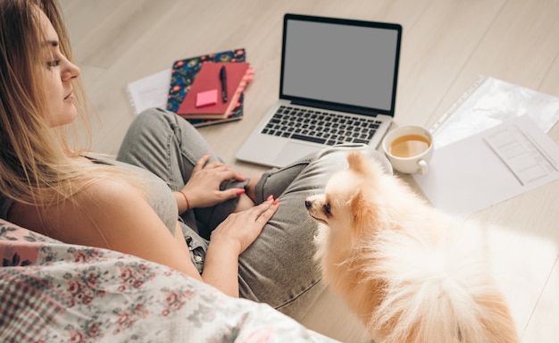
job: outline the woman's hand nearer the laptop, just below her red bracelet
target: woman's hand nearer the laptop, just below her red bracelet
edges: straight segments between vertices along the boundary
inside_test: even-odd
[[[225,180],[244,181],[246,178],[240,172],[231,170],[227,164],[207,163],[209,159],[210,153],[196,162],[190,179],[181,189],[188,197],[189,208],[217,205],[245,193],[243,188],[221,190],[221,182]]]

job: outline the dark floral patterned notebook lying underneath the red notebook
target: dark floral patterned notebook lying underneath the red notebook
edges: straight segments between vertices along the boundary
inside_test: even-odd
[[[186,58],[175,61],[172,65],[171,84],[167,99],[167,110],[176,112],[182,100],[188,93],[188,89],[196,78],[204,62],[246,62],[245,49],[223,51],[215,54],[204,54],[197,57]],[[244,94],[238,98],[238,105],[235,106],[231,114],[226,119],[218,120],[196,120],[188,119],[196,127],[219,124],[227,121],[238,121],[243,118],[243,99]]]

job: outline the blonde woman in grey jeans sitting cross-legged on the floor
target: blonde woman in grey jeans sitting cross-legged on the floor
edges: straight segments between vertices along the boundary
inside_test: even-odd
[[[69,136],[85,106],[54,0],[0,0],[0,26],[0,218],[305,314],[321,290],[305,197],[348,149],[375,152],[338,146],[247,180],[187,121],[154,109],[132,123],[120,161],[88,154]]]

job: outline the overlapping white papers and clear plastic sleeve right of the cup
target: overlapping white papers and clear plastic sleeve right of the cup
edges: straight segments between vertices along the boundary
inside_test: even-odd
[[[465,215],[559,179],[559,146],[546,135],[559,98],[487,78],[433,128],[435,153],[413,179],[431,204]]]

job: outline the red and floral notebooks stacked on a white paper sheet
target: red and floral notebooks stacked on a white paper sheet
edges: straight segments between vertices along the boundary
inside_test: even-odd
[[[220,78],[219,70],[223,65],[227,65],[227,70],[225,77]],[[239,121],[244,116],[245,88],[254,77],[254,68],[248,65],[244,48],[203,54],[177,60],[170,69],[129,82],[125,89],[136,114],[150,107],[166,108],[182,114],[196,127]],[[217,70],[213,71],[212,67]],[[238,67],[243,71],[240,74]],[[202,78],[198,78],[200,72],[203,72]],[[202,89],[208,85],[209,88]],[[229,93],[226,97],[222,96],[223,86],[225,93]],[[194,88],[194,92],[190,92],[190,88]],[[215,99],[204,98],[210,102],[196,106],[199,104],[196,98],[202,90],[215,90]],[[218,97],[224,101],[218,101]]]

